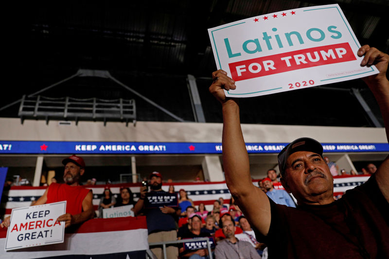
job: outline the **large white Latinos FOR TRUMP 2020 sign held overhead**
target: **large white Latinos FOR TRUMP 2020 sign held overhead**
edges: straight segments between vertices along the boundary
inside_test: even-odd
[[[208,29],[229,97],[297,90],[378,73],[361,67],[360,45],[339,5],[276,12]]]

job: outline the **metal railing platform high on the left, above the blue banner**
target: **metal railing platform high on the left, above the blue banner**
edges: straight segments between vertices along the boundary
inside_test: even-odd
[[[136,121],[135,100],[104,100],[97,98],[76,99],[71,97],[51,98],[23,95],[18,116],[24,119],[53,119],[86,121]]]

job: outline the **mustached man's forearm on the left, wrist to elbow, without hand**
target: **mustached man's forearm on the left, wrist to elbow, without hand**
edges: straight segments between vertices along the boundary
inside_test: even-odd
[[[239,105],[234,100],[223,104],[223,164],[231,193],[241,193],[252,185],[248,153],[239,119]]]

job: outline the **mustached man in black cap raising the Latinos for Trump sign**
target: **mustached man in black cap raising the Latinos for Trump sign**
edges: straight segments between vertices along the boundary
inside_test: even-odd
[[[368,45],[356,53],[361,68],[375,65],[379,73],[364,78],[373,92],[389,140],[389,56]],[[281,182],[298,201],[298,207],[276,205],[251,181],[248,153],[239,120],[237,99],[224,89],[235,82],[223,70],[212,73],[210,92],[222,104],[223,164],[227,186],[255,230],[257,240],[268,245],[274,258],[388,258],[389,257],[389,157],[363,185],[334,201],[331,172],[322,146],[300,138],[278,155]],[[315,108],[315,97],[306,102]],[[303,116],[303,114],[301,114]]]

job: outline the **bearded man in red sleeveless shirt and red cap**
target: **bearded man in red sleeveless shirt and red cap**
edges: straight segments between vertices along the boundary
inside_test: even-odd
[[[68,227],[93,218],[93,196],[92,190],[79,185],[80,177],[85,173],[84,159],[71,155],[62,160],[62,164],[65,166],[63,176],[65,183],[52,183],[35,205],[67,201],[66,214],[59,216],[57,221],[64,221],[65,227]],[[1,223],[1,227],[4,226],[9,226],[9,217]]]

